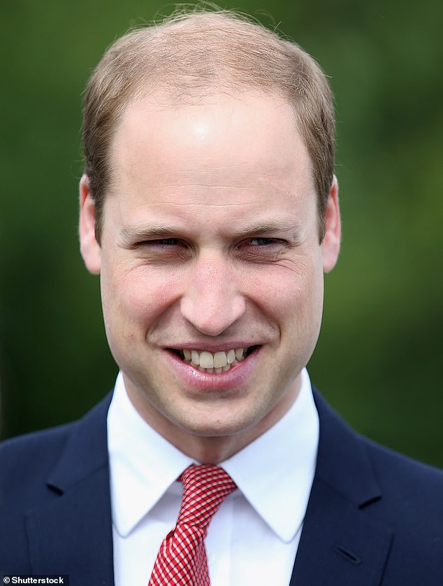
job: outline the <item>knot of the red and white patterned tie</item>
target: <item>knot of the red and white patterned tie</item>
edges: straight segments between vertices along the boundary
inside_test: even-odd
[[[219,466],[192,464],[182,473],[182,508],[177,524],[198,525],[207,529],[226,496],[235,489],[231,476]]]

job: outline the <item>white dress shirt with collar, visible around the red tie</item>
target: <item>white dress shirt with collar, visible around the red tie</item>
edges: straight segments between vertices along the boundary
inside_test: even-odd
[[[211,586],[289,584],[318,440],[319,419],[303,370],[289,412],[219,464],[238,489],[222,503],[205,539]],[[115,586],[146,586],[161,541],[177,521],[177,477],[196,462],[140,417],[121,373],[108,412],[108,449]]]

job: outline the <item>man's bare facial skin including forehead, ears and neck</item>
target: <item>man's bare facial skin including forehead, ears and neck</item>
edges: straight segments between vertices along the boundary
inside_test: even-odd
[[[183,452],[217,463],[296,399],[340,246],[337,183],[320,243],[289,104],[250,92],[165,101],[135,102],[117,128],[101,244],[82,178],[80,244],[101,274],[108,342],[133,405]],[[238,348],[246,357],[219,373],[186,360],[192,350],[232,360]]]

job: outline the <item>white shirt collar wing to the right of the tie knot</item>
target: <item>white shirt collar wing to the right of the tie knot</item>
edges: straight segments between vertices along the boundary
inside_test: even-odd
[[[319,416],[303,369],[291,409],[245,448],[221,463],[243,496],[284,542],[300,529],[317,463]]]

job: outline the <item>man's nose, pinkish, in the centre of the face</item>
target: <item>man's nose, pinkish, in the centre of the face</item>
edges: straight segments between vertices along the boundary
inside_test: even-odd
[[[216,254],[198,258],[180,303],[184,318],[204,335],[222,334],[245,312],[236,281],[226,259]]]

